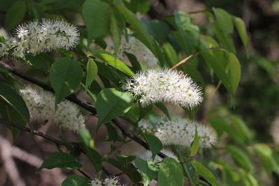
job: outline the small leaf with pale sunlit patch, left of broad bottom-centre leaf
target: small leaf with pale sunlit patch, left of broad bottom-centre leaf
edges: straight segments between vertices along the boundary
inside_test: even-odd
[[[142,160],[140,157],[136,157],[134,162],[137,169],[139,169],[142,173],[146,174],[149,180],[157,179],[158,169],[154,165],[155,163],[146,162],[145,160]]]

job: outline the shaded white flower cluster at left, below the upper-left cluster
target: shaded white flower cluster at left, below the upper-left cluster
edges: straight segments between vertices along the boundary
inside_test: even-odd
[[[63,129],[79,132],[85,127],[84,116],[76,104],[63,100],[55,111],[55,96],[43,89],[25,86],[20,90],[24,102],[27,104],[31,120],[50,121]]]

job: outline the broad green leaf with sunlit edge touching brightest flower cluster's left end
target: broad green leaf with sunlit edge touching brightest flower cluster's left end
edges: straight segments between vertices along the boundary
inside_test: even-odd
[[[112,118],[122,116],[133,106],[133,96],[130,93],[117,91],[114,88],[106,88],[97,95],[96,110],[98,125],[107,123]]]

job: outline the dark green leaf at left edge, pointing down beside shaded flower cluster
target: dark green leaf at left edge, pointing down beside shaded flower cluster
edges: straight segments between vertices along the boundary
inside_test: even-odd
[[[20,116],[22,116],[22,119],[28,123],[29,122],[29,110],[27,108],[27,105],[25,104],[24,100],[22,100],[22,97],[17,94],[10,86],[7,86],[6,84],[2,84],[0,82],[0,98],[2,98],[4,101],[6,101],[8,104],[10,104],[15,111],[17,111]]]

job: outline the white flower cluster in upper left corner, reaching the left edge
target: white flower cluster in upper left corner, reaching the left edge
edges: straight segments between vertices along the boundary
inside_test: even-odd
[[[79,41],[80,33],[72,24],[58,20],[35,20],[17,26],[15,37],[8,38],[2,45],[8,47],[8,54],[15,57],[25,54],[36,55],[52,49],[71,49]],[[2,46],[3,47],[3,46]],[[6,56],[0,54],[0,56]]]

